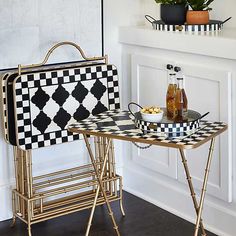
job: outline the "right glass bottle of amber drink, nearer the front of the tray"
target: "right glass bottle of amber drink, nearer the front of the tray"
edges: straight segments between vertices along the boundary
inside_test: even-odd
[[[183,78],[177,78],[177,82],[175,96],[175,122],[182,122],[187,121],[188,119],[188,100],[183,86]]]

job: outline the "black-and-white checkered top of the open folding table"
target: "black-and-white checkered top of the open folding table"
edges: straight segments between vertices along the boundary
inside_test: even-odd
[[[107,135],[111,138],[123,139],[140,143],[152,143],[156,145],[194,148],[204,140],[215,134],[223,132],[227,125],[223,122],[202,121],[200,128],[191,134],[181,137],[169,137],[165,133],[144,133],[137,129],[128,111],[110,110],[97,116],[72,124],[68,129],[77,133],[88,133],[94,135]]]

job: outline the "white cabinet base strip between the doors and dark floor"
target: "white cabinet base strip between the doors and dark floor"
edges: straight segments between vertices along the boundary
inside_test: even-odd
[[[189,194],[175,188],[170,189],[168,185],[159,184],[158,181],[151,181],[150,177],[135,173],[130,168],[125,168],[123,172],[125,191],[195,224],[195,212]],[[205,228],[218,236],[235,236],[235,212],[215,206],[214,203],[205,202]]]

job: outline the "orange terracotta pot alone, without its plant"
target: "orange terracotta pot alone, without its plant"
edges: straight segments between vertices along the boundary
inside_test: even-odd
[[[208,24],[209,11],[188,11],[186,19],[189,25]]]

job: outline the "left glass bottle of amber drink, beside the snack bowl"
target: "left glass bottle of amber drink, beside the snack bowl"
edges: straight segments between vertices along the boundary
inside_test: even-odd
[[[176,97],[176,79],[175,74],[169,74],[169,85],[166,93],[166,115],[169,120],[175,118],[175,97]]]

